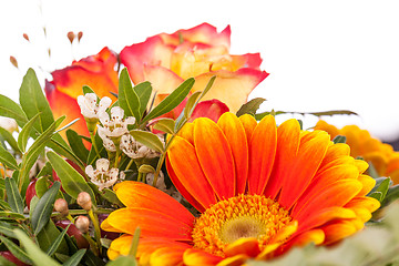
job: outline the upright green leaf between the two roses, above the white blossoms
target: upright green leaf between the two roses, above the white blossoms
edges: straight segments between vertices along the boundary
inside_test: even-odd
[[[124,110],[125,115],[134,116],[139,122],[141,120],[140,100],[136,92],[133,90],[126,68],[124,68],[120,74],[117,95],[119,104]]]

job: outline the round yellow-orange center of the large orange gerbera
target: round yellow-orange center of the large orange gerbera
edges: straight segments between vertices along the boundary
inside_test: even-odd
[[[207,208],[193,228],[194,247],[224,257],[228,244],[255,237],[260,249],[291,217],[278,203],[260,195],[238,195]]]

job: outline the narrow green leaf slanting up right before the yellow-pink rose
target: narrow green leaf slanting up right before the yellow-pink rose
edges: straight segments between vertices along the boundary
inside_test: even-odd
[[[176,90],[174,90],[170,95],[167,95],[158,105],[156,105],[141,122],[145,122],[158,117],[162,114],[165,114],[173,109],[175,109],[183,100],[188,95],[191,89],[194,85],[195,80],[193,78],[184,81]]]

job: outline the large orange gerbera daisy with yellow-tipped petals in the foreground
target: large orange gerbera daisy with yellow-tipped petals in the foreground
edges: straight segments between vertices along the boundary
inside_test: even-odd
[[[324,131],[301,131],[296,120],[277,127],[274,116],[197,119],[173,141],[166,166],[198,217],[150,185],[120,183],[126,207],[102,228],[124,234],[109,257],[129,253],[136,226],[143,265],[241,265],[311,242],[334,244],[379,207],[366,196],[375,185],[362,174],[367,163],[349,153]]]

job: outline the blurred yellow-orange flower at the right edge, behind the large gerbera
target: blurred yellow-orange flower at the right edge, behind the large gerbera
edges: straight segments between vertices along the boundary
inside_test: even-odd
[[[366,130],[357,125],[346,125],[341,130],[320,120],[315,130],[327,131],[331,140],[337,135],[346,136],[346,143],[350,146],[350,155],[361,156],[371,163],[380,176],[389,176],[395,184],[399,184],[399,153],[392,146],[372,137]]]

